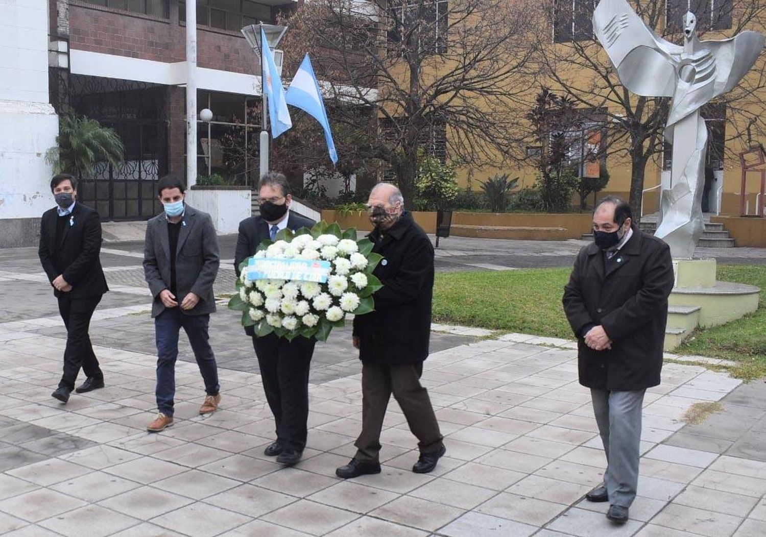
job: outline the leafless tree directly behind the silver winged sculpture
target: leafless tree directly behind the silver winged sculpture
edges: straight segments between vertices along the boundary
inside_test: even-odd
[[[629,0],[656,34],[683,43],[681,18],[687,0]],[[614,66],[593,35],[591,18],[597,0],[548,0],[549,30],[554,41],[538,47],[545,74],[554,91],[565,93],[578,106],[604,110],[607,141],[604,151],[630,160],[630,208],[638,219],[647,163],[663,151],[663,131],[669,110],[666,97],[639,97],[620,84]],[[702,39],[729,38],[745,29],[763,31],[766,3],[761,0],[691,0]],[[721,100],[725,106],[727,142],[741,139],[751,146],[766,133],[764,123],[764,57],[740,86]],[[704,110],[703,110],[704,115]],[[730,144],[727,144],[728,146]]]

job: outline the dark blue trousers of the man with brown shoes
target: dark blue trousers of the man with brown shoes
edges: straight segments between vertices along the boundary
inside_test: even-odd
[[[209,315],[184,315],[176,306],[166,308],[154,319],[157,342],[157,408],[166,416],[173,415],[175,395],[175,359],[178,358],[178,332],[183,329],[194,351],[199,372],[205,381],[205,392],[218,395],[218,366],[208,337]]]

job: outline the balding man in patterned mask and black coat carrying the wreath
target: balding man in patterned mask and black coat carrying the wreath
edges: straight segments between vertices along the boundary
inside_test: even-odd
[[[434,247],[403,211],[404,198],[394,185],[376,185],[368,200],[375,230],[372,251],[383,256],[374,274],[383,286],[373,298],[375,311],[354,319],[353,342],[362,360],[362,432],[355,457],[336,470],[342,478],[381,471],[380,434],[391,394],[401,407],[420,458],[412,467],[427,473],[444,455],[443,437],[426,388],[421,385],[428,356]]]

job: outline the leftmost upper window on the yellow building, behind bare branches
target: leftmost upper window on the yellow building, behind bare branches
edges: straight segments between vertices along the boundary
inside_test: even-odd
[[[424,0],[408,4],[407,0],[391,0],[388,7],[388,41],[401,47],[415,44],[404,43],[404,35],[416,38],[418,51],[429,54],[447,52],[448,3],[445,0]],[[419,27],[419,28],[418,28]],[[394,47],[394,50],[398,50]]]

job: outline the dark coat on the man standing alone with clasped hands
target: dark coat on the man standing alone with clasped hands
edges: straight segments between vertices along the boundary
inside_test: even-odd
[[[602,390],[640,390],[660,384],[673,260],[660,239],[633,226],[633,236],[608,269],[595,244],[583,247],[564,288],[564,311],[578,336],[580,384]],[[581,332],[601,325],[611,350],[594,351]]]

